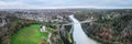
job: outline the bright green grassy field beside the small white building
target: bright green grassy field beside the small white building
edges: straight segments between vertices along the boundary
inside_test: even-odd
[[[30,26],[20,29],[20,31],[11,36],[11,44],[38,44],[42,38],[47,38],[48,33],[40,32],[40,24],[32,24]]]

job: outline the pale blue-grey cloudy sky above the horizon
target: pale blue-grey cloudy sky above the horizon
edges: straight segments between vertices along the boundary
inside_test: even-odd
[[[0,9],[132,9],[132,0],[0,0]]]

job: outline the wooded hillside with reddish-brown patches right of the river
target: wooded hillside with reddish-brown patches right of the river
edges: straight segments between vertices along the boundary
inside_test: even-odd
[[[113,11],[114,13],[107,12],[108,14],[97,13],[99,16],[91,15],[96,16],[97,21],[82,23],[82,29],[88,36],[103,44],[132,44],[132,13],[117,10]],[[85,16],[85,20],[89,18]],[[84,21],[82,18],[79,20]]]

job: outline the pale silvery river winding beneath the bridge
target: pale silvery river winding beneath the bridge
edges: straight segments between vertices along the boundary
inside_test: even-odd
[[[85,34],[79,21],[75,19],[74,15],[69,15],[69,19],[73,21],[73,38],[76,44],[97,44],[96,41],[91,40]]]

